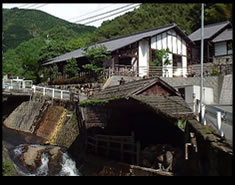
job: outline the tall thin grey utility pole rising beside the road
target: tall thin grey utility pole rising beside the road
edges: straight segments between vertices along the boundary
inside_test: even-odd
[[[200,83],[200,122],[203,123],[204,117],[202,114],[202,106],[204,103],[204,97],[203,97],[203,49],[204,47],[204,4],[202,3],[202,10],[201,10],[201,65],[200,65],[200,70],[201,70],[201,83]]]

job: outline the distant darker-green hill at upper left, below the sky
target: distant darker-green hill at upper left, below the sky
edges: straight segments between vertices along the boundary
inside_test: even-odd
[[[3,52],[16,48],[23,41],[41,36],[55,26],[71,29],[77,35],[95,30],[95,27],[72,24],[40,10],[3,9],[2,15]]]

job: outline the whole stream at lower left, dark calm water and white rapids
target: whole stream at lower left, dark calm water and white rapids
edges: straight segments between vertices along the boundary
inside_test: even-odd
[[[32,134],[23,133],[3,127],[3,144],[9,150],[11,159],[14,162],[16,170],[20,176],[49,176],[49,155],[47,152],[43,152],[41,155],[41,165],[35,170],[34,173],[30,173],[18,160],[19,156],[24,152],[24,144],[29,144],[33,147],[40,147],[43,139],[36,137]],[[53,147],[53,146],[49,146]],[[81,176],[80,172],[76,168],[76,163],[71,159],[67,152],[62,153],[60,160],[61,170],[59,173],[53,174],[53,176]]]

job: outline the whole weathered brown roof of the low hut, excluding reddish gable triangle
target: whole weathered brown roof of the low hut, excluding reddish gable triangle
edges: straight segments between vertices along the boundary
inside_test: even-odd
[[[157,113],[165,114],[171,118],[185,117],[193,115],[184,99],[179,96],[179,93],[166,84],[172,91],[175,91],[173,96],[143,96],[138,95],[142,90],[160,81],[159,78],[142,79],[125,83],[123,85],[111,86],[95,94],[91,99],[111,99],[113,97],[132,98],[151,106]]]

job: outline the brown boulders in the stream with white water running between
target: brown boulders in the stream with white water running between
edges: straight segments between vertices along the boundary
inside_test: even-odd
[[[71,175],[64,172],[64,155],[65,148],[50,145],[19,145],[15,150],[15,157],[18,161],[18,170],[23,175],[36,176],[55,176],[55,175]],[[70,160],[68,157],[66,160]],[[78,171],[73,166],[70,169],[72,175],[79,175]]]

